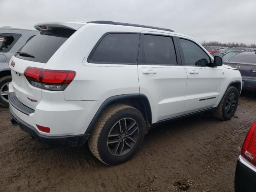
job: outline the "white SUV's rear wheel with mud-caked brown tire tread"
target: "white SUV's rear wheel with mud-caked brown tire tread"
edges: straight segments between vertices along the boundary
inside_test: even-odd
[[[140,111],[126,104],[113,104],[98,119],[88,145],[92,154],[104,164],[120,164],[136,154],[143,142],[145,128]]]

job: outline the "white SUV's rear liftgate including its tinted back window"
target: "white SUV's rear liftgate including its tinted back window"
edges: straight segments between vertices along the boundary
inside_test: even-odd
[[[42,69],[50,60],[54,53],[64,44],[64,42],[76,31],[70,28],[53,28],[41,30],[40,34],[30,39],[12,57],[9,67],[12,73],[12,85],[15,96],[20,102],[31,109],[35,109],[41,100],[42,86],[37,81],[31,81],[31,76],[38,76],[38,70],[30,70],[30,78],[24,75],[28,68]],[[34,74],[33,74],[34,73]],[[47,71],[46,71],[47,73]],[[49,76],[49,74],[46,74]],[[52,75],[52,74],[50,74]]]

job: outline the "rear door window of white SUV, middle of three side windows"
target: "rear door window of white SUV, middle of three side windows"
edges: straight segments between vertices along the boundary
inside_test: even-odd
[[[144,35],[140,46],[139,64],[177,64],[174,43],[171,37]]]

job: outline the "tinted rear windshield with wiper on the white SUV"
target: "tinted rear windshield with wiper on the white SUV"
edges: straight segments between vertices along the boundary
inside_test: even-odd
[[[47,63],[62,44],[75,32],[70,29],[41,31],[31,38],[15,56],[21,59]]]

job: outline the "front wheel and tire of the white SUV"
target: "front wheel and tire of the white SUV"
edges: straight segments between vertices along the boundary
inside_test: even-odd
[[[226,90],[218,107],[212,112],[212,116],[223,121],[230,120],[236,112],[238,100],[239,93],[237,88],[230,86]]]

